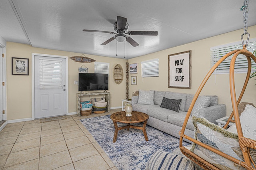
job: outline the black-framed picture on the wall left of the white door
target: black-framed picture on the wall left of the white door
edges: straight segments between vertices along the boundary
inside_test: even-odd
[[[28,75],[28,58],[12,57],[12,75]]]

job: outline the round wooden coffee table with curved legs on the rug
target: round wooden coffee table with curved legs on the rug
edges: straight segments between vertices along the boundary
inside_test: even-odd
[[[148,141],[146,125],[147,125],[147,121],[148,121],[149,117],[146,113],[133,111],[132,116],[127,117],[125,112],[116,112],[116,113],[113,113],[110,116],[110,118],[112,119],[114,126],[115,126],[115,134],[114,134],[113,143],[116,142],[118,130],[122,130],[122,129],[126,129],[126,128],[127,128],[127,130],[129,130],[129,128],[136,128],[136,129],[142,130],[142,132],[145,136],[145,140]],[[123,126],[123,127],[118,127],[117,122],[127,123],[128,125]],[[141,122],[144,122],[142,127],[130,125],[131,123],[141,123]]]

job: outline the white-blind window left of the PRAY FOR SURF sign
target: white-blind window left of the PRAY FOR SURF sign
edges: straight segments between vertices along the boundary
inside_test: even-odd
[[[141,77],[158,77],[159,59],[151,59],[141,62]]]

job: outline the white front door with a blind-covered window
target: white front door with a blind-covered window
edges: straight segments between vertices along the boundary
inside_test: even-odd
[[[35,119],[66,115],[66,59],[34,56]]]

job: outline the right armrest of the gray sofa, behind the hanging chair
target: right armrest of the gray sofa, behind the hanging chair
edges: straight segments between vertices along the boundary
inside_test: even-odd
[[[226,105],[218,104],[210,107],[202,108],[199,112],[200,117],[204,117],[209,122],[217,125],[216,120],[226,116]]]

